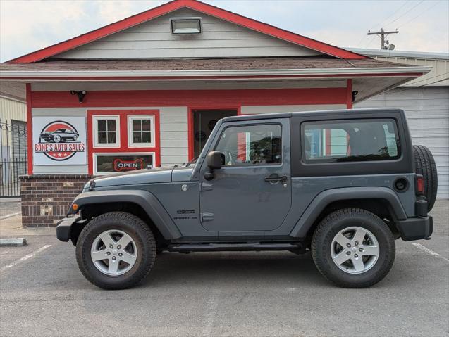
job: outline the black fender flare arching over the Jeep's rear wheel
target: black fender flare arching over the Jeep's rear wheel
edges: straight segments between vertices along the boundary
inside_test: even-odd
[[[313,226],[315,220],[327,205],[334,201],[350,199],[381,199],[390,205],[398,220],[407,219],[402,203],[396,193],[388,187],[343,187],[339,189],[328,189],[319,193],[307,206],[295,227],[290,232],[290,236],[304,238]]]

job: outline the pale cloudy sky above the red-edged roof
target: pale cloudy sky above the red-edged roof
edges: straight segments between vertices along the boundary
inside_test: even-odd
[[[76,37],[167,1],[0,0],[0,61]],[[449,52],[449,0],[204,0],[340,47],[379,49],[367,31],[399,30],[395,50]]]

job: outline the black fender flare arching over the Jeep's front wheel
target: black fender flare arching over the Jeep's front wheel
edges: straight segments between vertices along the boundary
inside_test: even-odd
[[[173,240],[179,239],[182,236],[164,206],[162,206],[156,196],[149,191],[113,190],[85,192],[78,195],[73,203],[78,205],[79,210],[82,210],[82,207],[85,205],[97,205],[102,203],[135,203],[147,212],[147,215],[154,222],[154,225],[159,229],[162,236],[164,236],[164,239]]]

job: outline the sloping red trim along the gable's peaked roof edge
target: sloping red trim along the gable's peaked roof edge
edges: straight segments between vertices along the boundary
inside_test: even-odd
[[[180,8],[185,7],[205,13],[207,15],[212,15],[216,18],[226,20],[230,23],[235,23],[236,25],[249,28],[250,30],[256,30],[257,32],[262,32],[272,37],[277,37],[278,39],[292,42],[293,44],[298,44],[300,46],[305,46],[309,49],[320,51],[321,53],[325,53],[330,56],[335,56],[337,58],[367,58],[367,56],[363,56],[352,51],[347,51],[345,49],[338,48],[337,46],[332,46],[331,44],[319,42],[314,39],[310,39],[309,37],[304,37],[302,35],[289,32],[287,30],[282,30],[281,28],[274,27],[257,20],[246,18],[245,16],[226,11],[209,4],[204,4],[203,2],[197,0],[173,0],[171,2],[168,2],[167,4],[152,8],[149,11],[144,11],[142,13],[130,16],[129,18],[125,18],[121,21],[112,23],[111,25],[104,26],[97,30],[92,30],[92,32],[87,32],[78,37],[74,37],[73,39],[68,39],[64,42],[60,42],[59,44],[54,44],[53,46],[49,46],[32,53],[28,53],[27,55],[14,58],[13,60],[8,61],[8,63],[33,63],[41,61],[45,58],[49,58],[64,51],[74,49],[78,46],[82,46],[83,44],[101,39],[102,37],[120,32],[121,30],[125,30],[129,27],[144,23],[147,20],[152,20],[153,18],[157,18],[166,13],[170,13],[172,11],[176,11]]]

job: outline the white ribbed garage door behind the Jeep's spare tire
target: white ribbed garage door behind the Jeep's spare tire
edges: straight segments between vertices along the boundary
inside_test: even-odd
[[[430,148],[438,167],[439,199],[449,198],[449,87],[400,87],[355,108],[402,108],[413,144]]]

